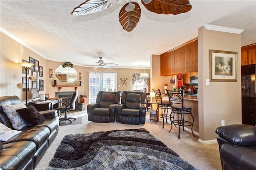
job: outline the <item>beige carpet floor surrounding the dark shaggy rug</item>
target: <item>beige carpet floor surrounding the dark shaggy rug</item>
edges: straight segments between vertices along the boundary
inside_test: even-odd
[[[60,126],[59,133],[51,146],[46,151],[42,160],[39,162],[36,170],[45,170],[49,166],[50,160],[53,158],[56,149],[58,148],[62,138],[66,134],[90,133],[98,131],[129,129],[129,128],[145,128],[156,138],[161,140],[168,148],[171,148],[180,155],[181,158],[188,161],[190,164],[198,168],[198,170],[221,170],[220,156],[218,144],[201,144],[198,142],[198,136],[195,138],[192,133],[182,131],[180,139],[178,139],[178,128],[173,127],[169,133],[170,124],[165,124],[162,128],[162,122],[156,125],[154,121],[150,121],[149,112],[147,112],[146,123],[144,125],[124,125],[121,123],[93,123],[87,120],[86,111],[81,112],[82,124]],[[71,115],[69,115],[71,116]],[[80,116],[75,113],[74,116]]]

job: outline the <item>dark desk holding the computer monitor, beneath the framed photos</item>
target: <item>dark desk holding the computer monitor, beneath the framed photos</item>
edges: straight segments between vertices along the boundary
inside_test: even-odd
[[[59,102],[60,102],[60,99],[54,99],[54,100],[30,102],[28,103],[28,105],[34,106],[38,111],[48,111],[48,110],[52,110],[59,107],[60,106]]]

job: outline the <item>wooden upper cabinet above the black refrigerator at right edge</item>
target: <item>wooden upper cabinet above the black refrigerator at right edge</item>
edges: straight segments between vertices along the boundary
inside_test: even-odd
[[[256,43],[241,48],[241,65],[256,63]]]

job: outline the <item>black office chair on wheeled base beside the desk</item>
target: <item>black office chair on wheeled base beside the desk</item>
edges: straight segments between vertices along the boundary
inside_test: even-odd
[[[72,95],[70,102],[69,101],[59,102],[62,104],[62,106],[57,107],[56,110],[63,111],[65,113],[64,118],[60,119],[60,122],[61,121],[70,121],[70,123],[72,123],[72,121],[70,119],[76,120],[76,118],[74,118],[74,117],[67,117],[67,112],[76,109],[77,97],[78,97],[78,91],[75,91]]]

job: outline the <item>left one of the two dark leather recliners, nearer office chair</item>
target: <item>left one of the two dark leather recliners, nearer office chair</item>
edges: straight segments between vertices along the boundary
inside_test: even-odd
[[[115,106],[120,102],[120,91],[99,91],[96,103],[87,106],[88,121],[110,123],[116,121]]]

